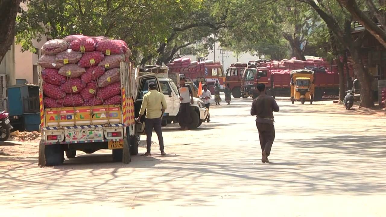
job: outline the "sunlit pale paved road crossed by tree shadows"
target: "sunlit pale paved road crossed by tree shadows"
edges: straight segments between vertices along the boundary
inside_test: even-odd
[[[262,164],[251,102],[212,105],[196,131],[164,130],[166,157],[156,137],[153,155],[128,165],[110,163],[109,151],[53,168],[38,168],[35,154],[2,157],[3,216],[386,215],[384,117],[279,102]]]

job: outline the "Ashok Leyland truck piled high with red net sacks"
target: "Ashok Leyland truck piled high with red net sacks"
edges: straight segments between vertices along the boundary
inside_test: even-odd
[[[40,166],[62,164],[64,152],[74,158],[76,151],[99,149],[112,149],[113,161],[129,163],[143,126],[134,121],[141,105],[135,104],[137,78],[127,44],[75,35],[46,42],[41,53]]]

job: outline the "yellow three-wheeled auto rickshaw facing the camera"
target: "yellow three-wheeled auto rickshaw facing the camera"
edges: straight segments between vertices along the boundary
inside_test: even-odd
[[[315,73],[312,70],[294,70],[291,72],[291,101],[310,101],[312,104],[315,94]]]

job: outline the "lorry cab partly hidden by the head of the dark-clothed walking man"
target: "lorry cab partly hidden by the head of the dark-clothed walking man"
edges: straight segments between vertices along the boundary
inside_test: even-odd
[[[267,75],[269,70],[267,68],[247,68],[244,71],[244,75],[242,78],[242,97],[248,98],[251,96],[252,98],[256,98],[259,96],[259,92],[256,89],[257,84],[259,83],[268,83]]]

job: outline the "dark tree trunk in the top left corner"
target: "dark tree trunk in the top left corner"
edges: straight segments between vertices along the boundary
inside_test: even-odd
[[[15,22],[21,0],[0,1],[0,63],[14,42]]]

